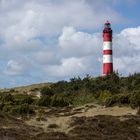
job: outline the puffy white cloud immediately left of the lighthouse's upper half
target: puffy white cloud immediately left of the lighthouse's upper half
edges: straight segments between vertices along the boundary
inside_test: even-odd
[[[101,34],[92,35],[65,27],[59,45],[64,57],[98,56],[102,46]]]

